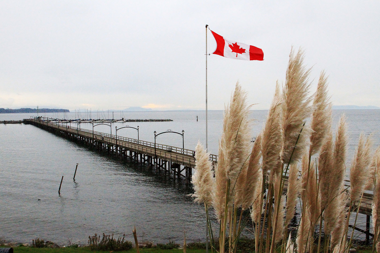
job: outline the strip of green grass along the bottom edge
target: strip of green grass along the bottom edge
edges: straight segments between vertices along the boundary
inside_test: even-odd
[[[2,246],[4,247],[4,246]],[[32,248],[32,247],[13,247],[14,253],[105,253],[109,251],[91,251],[89,247],[79,248]],[[146,248],[140,249],[140,253],[180,253],[184,252],[182,249],[173,250],[161,250],[159,248]],[[187,253],[204,253],[206,250],[186,250]],[[210,251],[211,252],[211,251]],[[133,248],[127,251],[114,251],[114,253],[136,253],[136,249]]]

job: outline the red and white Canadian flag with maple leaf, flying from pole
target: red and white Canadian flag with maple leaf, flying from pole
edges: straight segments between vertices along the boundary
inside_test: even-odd
[[[212,32],[212,35],[214,35],[216,41],[216,49],[212,54],[239,60],[264,60],[264,52],[258,47],[228,40],[214,32]]]

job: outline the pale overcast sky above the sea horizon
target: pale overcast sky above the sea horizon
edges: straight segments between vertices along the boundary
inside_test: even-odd
[[[334,105],[380,106],[379,1],[0,2],[0,107],[204,109],[205,41],[260,47],[263,61],[208,57],[209,109],[236,81],[268,109],[291,46],[305,50],[314,92]],[[211,33],[209,49],[215,49]]]

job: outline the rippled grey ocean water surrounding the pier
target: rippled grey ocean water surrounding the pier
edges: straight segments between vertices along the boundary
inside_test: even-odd
[[[348,157],[353,155],[361,132],[372,133],[375,147],[380,145],[380,110],[334,110],[334,125],[342,113],[348,120]],[[260,132],[266,114],[267,111],[251,112],[252,138]],[[115,112],[114,117],[121,118],[117,115]],[[0,114],[0,120],[31,116],[36,114]],[[74,113],[40,116],[78,117]],[[96,116],[92,114],[92,118]],[[198,140],[205,143],[204,111],[124,112],[120,116],[173,121],[112,123],[111,128],[101,125],[94,130],[110,133],[112,129],[115,134],[114,126],[139,125],[139,139],[151,142],[154,131],[184,130],[186,149],[194,149]],[[209,112],[208,147],[214,154],[222,119],[222,111]],[[81,128],[92,130],[92,124],[82,123]],[[137,139],[137,131],[132,128],[117,134]],[[165,243],[170,239],[180,243],[184,230],[187,240],[204,240],[204,207],[193,203],[188,196],[192,188],[183,179],[173,182],[162,171],[134,161],[111,159],[32,125],[1,124],[0,143],[0,239],[31,242],[41,238],[59,244],[67,244],[68,240],[87,244],[88,236],[105,232],[115,236],[125,233],[132,240],[131,231],[136,226],[139,240]],[[161,134],[157,143],[182,147],[182,136]],[[79,165],[74,182],[76,163]],[[349,168],[350,159],[346,164]],[[216,226],[215,219],[213,222]]]

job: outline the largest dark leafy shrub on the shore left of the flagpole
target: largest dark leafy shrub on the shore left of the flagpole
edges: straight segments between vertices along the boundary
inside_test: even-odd
[[[117,240],[114,239],[114,234],[106,235],[103,233],[103,238],[100,240],[100,236],[95,234],[95,236],[89,236],[89,245],[91,250],[112,250],[112,251],[120,251],[120,250],[130,250],[132,248],[132,242],[124,240],[125,234],[123,234],[123,238],[119,237]]]

